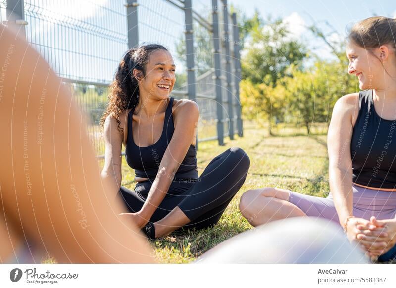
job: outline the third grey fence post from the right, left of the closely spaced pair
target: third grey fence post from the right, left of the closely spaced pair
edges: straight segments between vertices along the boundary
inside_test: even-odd
[[[224,145],[224,120],[223,120],[223,96],[221,87],[221,66],[220,66],[220,41],[219,41],[219,20],[217,15],[217,0],[212,0],[213,14],[213,46],[214,46],[214,78],[216,83],[216,110],[217,110],[217,139],[219,145]]]

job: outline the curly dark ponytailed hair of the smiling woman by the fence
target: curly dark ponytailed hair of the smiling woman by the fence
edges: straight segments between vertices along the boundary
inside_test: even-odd
[[[133,69],[138,69],[143,72],[143,76],[146,76],[146,64],[150,59],[150,55],[161,49],[168,51],[162,45],[148,44],[131,48],[125,53],[115,73],[114,81],[110,86],[109,102],[100,119],[102,128],[107,116],[112,115],[118,123],[118,130],[122,131],[120,114],[124,110],[136,107],[139,103],[139,83],[132,71]]]

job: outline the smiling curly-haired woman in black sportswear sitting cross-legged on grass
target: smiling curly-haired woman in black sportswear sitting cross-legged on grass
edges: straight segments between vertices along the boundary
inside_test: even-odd
[[[102,117],[106,143],[103,179],[123,199],[122,215],[150,239],[185,226],[215,225],[245,182],[250,161],[240,148],[215,157],[198,177],[195,102],[170,97],[175,64],[161,45],[126,52]],[[121,148],[135,170],[133,191],[121,186]]]

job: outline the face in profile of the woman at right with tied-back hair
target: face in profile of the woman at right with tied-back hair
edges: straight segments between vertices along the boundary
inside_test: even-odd
[[[376,49],[368,51],[352,41],[347,44],[348,73],[357,77],[360,90],[378,89],[383,85],[384,68],[376,52]]]

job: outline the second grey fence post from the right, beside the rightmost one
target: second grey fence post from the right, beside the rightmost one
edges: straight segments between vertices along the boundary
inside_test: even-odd
[[[231,83],[231,57],[230,57],[230,38],[228,35],[228,8],[227,0],[223,1],[223,27],[224,27],[224,48],[225,48],[225,60],[226,60],[226,79],[227,79],[227,99],[228,99],[228,117],[230,119],[229,136],[230,139],[234,139],[234,104],[232,96],[232,83]]]

